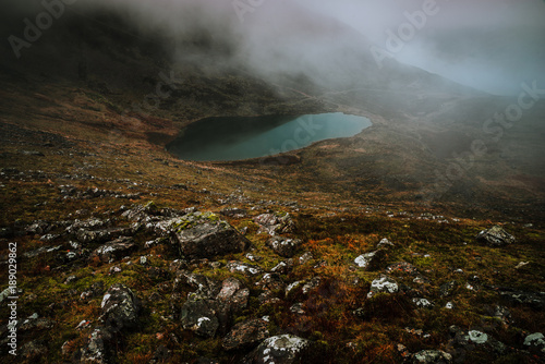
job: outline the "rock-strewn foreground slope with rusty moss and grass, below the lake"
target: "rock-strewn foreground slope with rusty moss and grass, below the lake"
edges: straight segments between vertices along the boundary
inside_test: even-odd
[[[19,296],[13,357],[1,295],[3,362],[545,359],[538,223],[363,205],[294,186],[289,166],[249,174],[10,123],[2,137]]]

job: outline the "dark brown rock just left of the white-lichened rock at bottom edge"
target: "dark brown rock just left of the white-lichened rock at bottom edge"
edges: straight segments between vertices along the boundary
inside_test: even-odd
[[[267,325],[268,323],[262,318],[250,319],[234,325],[223,339],[223,349],[238,350],[265,340],[269,335]]]

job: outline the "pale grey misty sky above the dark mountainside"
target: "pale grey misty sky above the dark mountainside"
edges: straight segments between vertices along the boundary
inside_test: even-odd
[[[1,8],[28,8],[31,3],[31,17],[43,11],[39,0],[3,1],[2,12]],[[361,39],[352,35],[347,37],[352,43],[342,46],[371,56],[370,45],[388,50],[388,32],[399,34],[400,26],[410,25],[407,14],[422,13],[435,2],[434,14],[413,29],[402,49],[390,51],[391,57],[493,94],[516,95],[522,82],[537,81],[545,87],[543,0],[235,1],[254,4],[242,22],[233,0],[80,0],[70,7],[74,12],[107,7],[142,29],[160,29],[172,39],[194,28],[206,29],[218,41],[235,45],[239,60],[247,60],[259,71],[300,68],[325,75],[331,73],[327,54],[338,52],[340,43],[327,34],[335,26],[320,29],[312,20],[344,24]],[[14,15],[19,17],[23,15]]]

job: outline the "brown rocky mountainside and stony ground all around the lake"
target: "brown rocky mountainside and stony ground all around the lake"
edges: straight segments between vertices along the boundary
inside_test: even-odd
[[[114,17],[62,21],[85,61],[36,44],[0,70],[2,363],[545,361],[542,101],[445,182],[513,100],[396,66],[351,89],[205,72]],[[205,117],[331,111],[373,126],[257,160],[165,150]]]

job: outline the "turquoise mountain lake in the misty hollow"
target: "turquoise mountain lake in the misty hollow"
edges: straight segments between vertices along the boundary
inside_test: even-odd
[[[314,142],[348,137],[371,126],[367,118],[341,112],[300,117],[208,118],[194,122],[167,145],[185,160],[227,161],[272,156]]]

